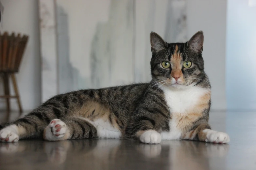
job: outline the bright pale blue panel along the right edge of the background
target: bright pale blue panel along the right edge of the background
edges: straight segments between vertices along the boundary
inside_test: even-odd
[[[232,110],[256,109],[256,5],[248,2],[228,0],[226,90]]]

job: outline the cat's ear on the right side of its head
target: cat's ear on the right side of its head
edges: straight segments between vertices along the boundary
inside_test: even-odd
[[[201,53],[203,51],[204,33],[202,31],[198,31],[192,36],[192,38],[190,38],[187,44],[191,50],[196,53]]]

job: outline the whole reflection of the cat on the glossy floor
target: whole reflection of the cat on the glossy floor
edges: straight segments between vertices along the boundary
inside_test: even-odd
[[[88,169],[209,169],[209,158],[226,156],[229,145],[193,141],[162,141],[158,145],[112,139],[81,139],[59,142],[26,141],[2,143],[1,154],[31,151],[44,152],[52,164],[74,165]],[[40,153],[41,152],[41,153]]]

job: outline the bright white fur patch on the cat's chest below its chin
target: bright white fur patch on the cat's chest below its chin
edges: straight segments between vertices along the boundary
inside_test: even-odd
[[[200,98],[209,90],[190,87],[183,90],[162,89],[164,98],[171,113],[186,114],[198,104]]]

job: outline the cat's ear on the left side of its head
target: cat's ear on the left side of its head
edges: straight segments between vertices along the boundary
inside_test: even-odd
[[[150,33],[150,44],[152,53],[157,53],[166,46],[166,42],[155,32]]]

